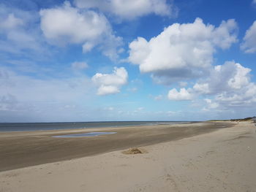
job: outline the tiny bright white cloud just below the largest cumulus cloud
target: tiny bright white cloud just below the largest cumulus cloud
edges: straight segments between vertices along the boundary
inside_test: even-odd
[[[168,99],[175,101],[192,100],[193,95],[190,93],[190,89],[181,88],[180,91],[177,91],[176,88],[173,88],[168,93]]]

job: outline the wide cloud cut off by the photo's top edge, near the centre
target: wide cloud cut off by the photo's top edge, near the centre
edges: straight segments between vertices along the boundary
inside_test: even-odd
[[[80,8],[97,8],[126,20],[132,20],[150,13],[161,16],[177,14],[176,7],[167,3],[166,0],[75,0],[75,4]]]

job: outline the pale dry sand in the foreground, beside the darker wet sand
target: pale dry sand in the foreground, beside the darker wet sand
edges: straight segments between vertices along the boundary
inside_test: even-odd
[[[253,123],[240,122],[139,147],[147,153],[126,155],[118,150],[0,172],[0,191],[252,192],[256,191],[255,129]]]

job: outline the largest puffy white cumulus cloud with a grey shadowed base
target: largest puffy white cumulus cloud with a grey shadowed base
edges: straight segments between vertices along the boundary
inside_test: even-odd
[[[189,80],[207,74],[217,48],[227,49],[236,39],[236,21],[222,21],[219,27],[194,23],[174,23],[149,41],[138,37],[129,44],[129,61],[140,72],[151,73],[158,83]]]

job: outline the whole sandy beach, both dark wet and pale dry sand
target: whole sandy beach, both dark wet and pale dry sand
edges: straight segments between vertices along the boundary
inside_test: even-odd
[[[81,130],[1,133],[0,191],[255,191],[255,128],[105,128],[118,133],[86,139],[52,137]],[[122,153],[129,147],[144,153]]]

